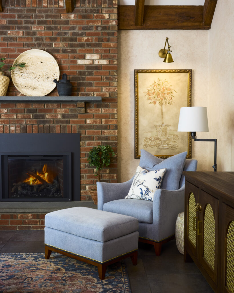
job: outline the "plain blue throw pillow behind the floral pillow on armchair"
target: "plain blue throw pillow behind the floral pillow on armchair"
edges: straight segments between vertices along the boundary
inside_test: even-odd
[[[186,156],[187,151],[175,156],[171,156],[164,160],[142,149],[139,166],[141,166],[143,169],[146,169],[147,171],[166,168],[166,173],[160,188],[166,190],[178,190]]]

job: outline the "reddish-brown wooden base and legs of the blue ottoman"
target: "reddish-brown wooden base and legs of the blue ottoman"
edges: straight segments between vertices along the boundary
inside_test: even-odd
[[[58,252],[58,253],[61,253],[63,255],[69,256],[71,258],[75,258],[75,259],[83,261],[85,263],[89,263],[91,265],[97,266],[99,278],[101,280],[103,280],[105,278],[106,267],[108,265],[111,265],[112,263],[116,263],[117,261],[119,261],[121,259],[130,257],[131,260],[132,260],[133,265],[137,265],[137,250],[132,251],[130,253],[127,253],[125,255],[121,255],[118,258],[114,258],[114,259],[109,260],[109,261],[107,261],[105,263],[97,263],[97,262],[95,262],[93,260],[89,260],[87,258],[82,258],[81,256],[78,256],[78,255],[75,255],[75,254],[72,254],[72,253],[68,253],[66,251],[63,251],[63,250],[60,250],[58,248],[54,248],[54,247],[51,247],[51,246],[47,246],[47,245],[45,245],[45,259],[49,259],[52,251]]]

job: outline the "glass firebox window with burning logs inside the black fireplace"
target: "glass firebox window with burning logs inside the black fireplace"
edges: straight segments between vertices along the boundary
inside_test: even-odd
[[[65,158],[8,156],[9,198],[63,198]]]

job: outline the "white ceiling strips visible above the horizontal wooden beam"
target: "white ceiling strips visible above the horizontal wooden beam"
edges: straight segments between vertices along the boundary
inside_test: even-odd
[[[144,5],[204,5],[205,0],[145,0]],[[135,5],[135,0],[118,0],[118,5]]]

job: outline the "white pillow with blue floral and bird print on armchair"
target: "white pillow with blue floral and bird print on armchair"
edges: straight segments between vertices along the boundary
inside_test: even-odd
[[[165,172],[166,168],[148,172],[138,166],[132,186],[125,198],[153,201],[154,193],[160,188]]]

